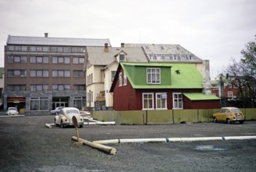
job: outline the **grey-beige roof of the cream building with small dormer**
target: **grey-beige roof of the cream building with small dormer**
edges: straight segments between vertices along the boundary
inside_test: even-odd
[[[108,47],[109,52],[104,52],[104,47],[87,47],[88,59],[91,65],[109,65],[116,60],[115,56],[120,52],[126,53],[126,62],[148,62],[141,47]]]

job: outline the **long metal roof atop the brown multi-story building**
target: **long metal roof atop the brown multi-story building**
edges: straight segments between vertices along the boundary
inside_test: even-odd
[[[111,46],[109,39],[22,37],[9,35],[6,45],[104,46],[105,43]]]

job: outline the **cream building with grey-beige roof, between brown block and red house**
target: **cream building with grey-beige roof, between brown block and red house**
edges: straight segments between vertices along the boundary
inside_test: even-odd
[[[90,109],[112,109],[113,98],[110,87],[114,80],[118,63],[148,62],[141,47],[87,47],[85,56],[86,106]]]

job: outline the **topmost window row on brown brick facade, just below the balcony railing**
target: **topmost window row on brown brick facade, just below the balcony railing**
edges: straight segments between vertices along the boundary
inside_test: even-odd
[[[49,63],[48,56],[31,56],[31,63]],[[8,63],[27,63],[27,56],[8,56]],[[70,57],[52,57],[52,63],[70,63]],[[73,57],[73,64],[85,63],[84,57]]]

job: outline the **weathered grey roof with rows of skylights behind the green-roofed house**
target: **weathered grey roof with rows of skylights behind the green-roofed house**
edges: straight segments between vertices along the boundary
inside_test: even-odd
[[[202,62],[202,59],[186,50],[181,45],[164,44],[125,44],[125,47],[142,47],[150,61],[175,61],[174,56],[180,61]],[[160,58],[159,58],[160,56]]]

